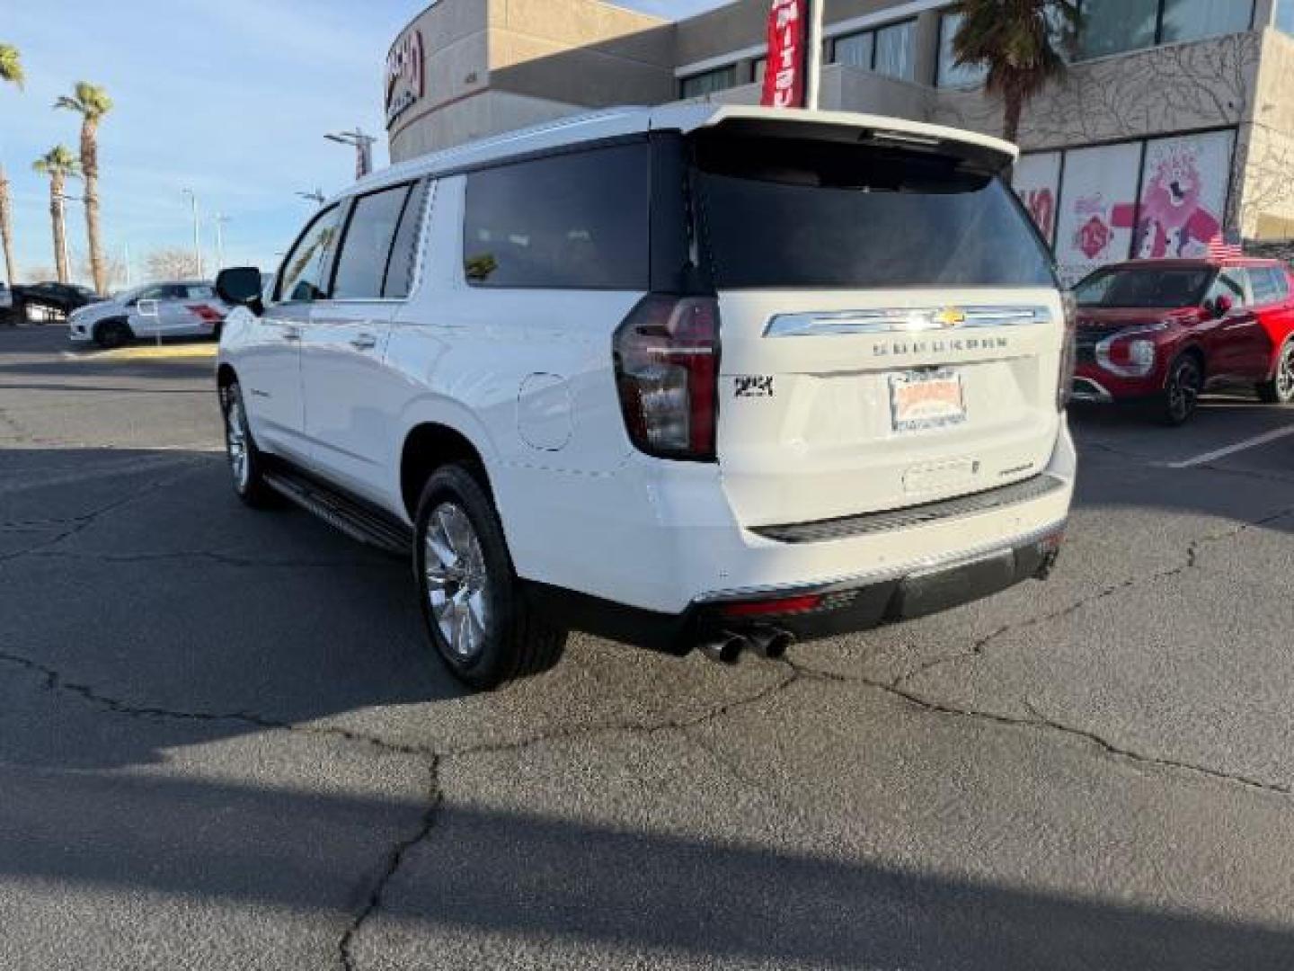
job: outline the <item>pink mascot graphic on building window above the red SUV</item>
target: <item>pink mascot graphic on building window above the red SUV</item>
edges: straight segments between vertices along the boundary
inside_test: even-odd
[[[1201,202],[1200,166],[1190,150],[1162,158],[1141,193],[1141,219],[1136,225],[1140,259],[1200,256],[1207,251],[1222,224]],[[1131,228],[1136,207],[1115,206],[1114,225]]]

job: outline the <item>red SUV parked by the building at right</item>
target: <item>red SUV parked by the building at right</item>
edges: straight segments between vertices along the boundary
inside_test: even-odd
[[[1294,281],[1280,260],[1134,260],[1077,287],[1074,400],[1181,425],[1210,386],[1294,401]]]

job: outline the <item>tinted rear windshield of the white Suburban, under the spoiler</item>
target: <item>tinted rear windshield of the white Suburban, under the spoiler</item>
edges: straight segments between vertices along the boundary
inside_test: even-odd
[[[968,161],[806,139],[694,145],[719,289],[1056,286],[1014,194]]]

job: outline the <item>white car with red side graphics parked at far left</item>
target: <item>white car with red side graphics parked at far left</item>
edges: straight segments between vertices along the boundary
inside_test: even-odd
[[[78,343],[120,347],[140,337],[220,337],[229,306],[203,280],[146,284],[79,309],[69,317]]]

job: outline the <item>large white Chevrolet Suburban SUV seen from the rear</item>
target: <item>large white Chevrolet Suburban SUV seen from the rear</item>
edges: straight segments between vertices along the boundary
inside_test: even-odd
[[[1014,149],[890,118],[611,110],[370,176],[237,304],[238,495],[411,554],[479,687],[568,629],[779,656],[1044,577],[1071,312]]]

